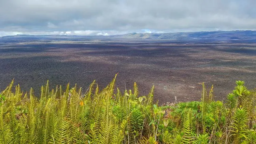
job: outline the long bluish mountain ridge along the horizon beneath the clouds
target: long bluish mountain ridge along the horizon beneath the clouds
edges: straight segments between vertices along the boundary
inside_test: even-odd
[[[256,41],[256,31],[201,31],[201,32],[171,32],[171,33],[127,33],[121,35],[12,35],[0,37],[3,39],[167,39],[167,40],[253,40]]]

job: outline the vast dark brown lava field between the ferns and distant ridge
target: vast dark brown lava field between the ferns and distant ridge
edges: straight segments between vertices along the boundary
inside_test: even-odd
[[[140,95],[155,85],[159,104],[200,100],[201,83],[214,85],[216,100],[225,99],[245,81],[256,87],[256,43],[166,40],[0,40],[0,91],[14,78],[24,91],[39,97],[50,87],[77,83],[85,92],[96,80],[104,88],[118,73],[122,91],[138,84]],[[52,86],[53,85],[53,86]]]

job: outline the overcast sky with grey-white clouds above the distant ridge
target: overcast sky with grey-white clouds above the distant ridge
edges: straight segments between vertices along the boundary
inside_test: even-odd
[[[0,37],[256,30],[256,0],[0,0]]]

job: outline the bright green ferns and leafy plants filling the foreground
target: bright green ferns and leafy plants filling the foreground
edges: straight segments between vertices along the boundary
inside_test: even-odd
[[[95,81],[83,93],[76,85],[0,93],[0,143],[256,143],[256,92],[243,81],[226,101],[214,101],[202,84],[200,102],[153,104],[154,86],[147,96],[133,90],[114,91],[116,75],[104,89]]]

